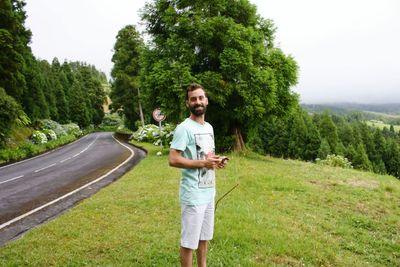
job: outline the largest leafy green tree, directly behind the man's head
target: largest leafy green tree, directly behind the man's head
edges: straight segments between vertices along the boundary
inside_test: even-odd
[[[283,116],[297,104],[290,90],[297,64],[274,47],[273,23],[247,0],[156,0],[142,18],[152,37],[142,87],[147,102],[170,120],[186,116],[185,88],[199,82],[209,94],[207,119],[217,138],[233,135],[240,150],[258,120]]]

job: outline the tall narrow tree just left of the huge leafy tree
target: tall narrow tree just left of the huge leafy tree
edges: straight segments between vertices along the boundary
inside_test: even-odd
[[[131,129],[140,117],[139,73],[143,47],[139,32],[128,25],[118,32],[112,57],[111,108],[123,112],[125,125]]]

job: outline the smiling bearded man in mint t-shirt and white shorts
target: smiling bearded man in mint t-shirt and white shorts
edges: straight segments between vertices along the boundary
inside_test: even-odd
[[[215,169],[225,161],[216,156],[214,130],[205,122],[208,98],[204,88],[191,84],[186,90],[189,118],[174,132],[169,165],[182,169],[181,265],[192,266],[193,250],[197,249],[198,266],[206,266],[208,240],[214,231]]]

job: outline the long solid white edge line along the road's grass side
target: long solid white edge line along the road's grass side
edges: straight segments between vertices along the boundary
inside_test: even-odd
[[[75,194],[76,192],[79,192],[79,191],[81,191],[82,189],[84,189],[84,188],[86,188],[86,187],[88,187],[88,186],[90,186],[90,185],[92,185],[92,184],[94,184],[94,183],[97,183],[97,182],[100,181],[100,180],[103,180],[103,179],[106,178],[108,175],[110,175],[110,174],[113,173],[114,171],[118,170],[122,165],[124,165],[124,164],[127,163],[129,160],[131,160],[131,158],[135,155],[135,152],[133,152],[133,150],[132,150],[129,146],[126,146],[126,145],[122,144],[120,141],[118,141],[117,139],[115,139],[114,136],[113,136],[113,138],[114,138],[114,140],[117,141],[121,146],[124,146],[125,148],[127,148],[127,149],[131,152],[131,155],[130,155],[124,162],[122,162],[122,163],[119,164],[117,167],[115,167],[115,168],[112,169],[111,171],[107,172],[107,173],[104,174],[103,176],[97,178],[96,180],[93,180],[93,181],[91,181],[91,182],[89,182],[89,183],[87,183],[87,184],[85,184],[85,185],[79,187],[78,189],[75,189],[75,190],[73,190],[73,191],[71,191],[71,192],[69,192],[69,193],[67,193],[67,194],[65,194],[65,195],[63,195],[63,196],[61,196],[61,197],[59,197],[59,198],[57,198],[57,199],[54,199],[54,200],[52,200],[52,201],[50,201],[50,202],[47,202],[46,204],[44,204],[44,205],[42,205],[42,206],[40,206],[40,207],[37,207],[36,209],[33,209],[33,210],[31,210],[31,211],[28,211],[27,213],[24,213],[24,214],[22,214],[22,215],[20,215],[20,216],[18,216],[18,217],[16,217],[16,218],[14,218],[14,219],[8,221],[8,222],[5,222],[5,223],[1,224],[1,225],[0,225],[0,230],[3,229],[3,228],[5,228],[5,227],[7,227],[7,226],[9,226],[10,224],[13,224],[13,223],[15,223],[15,222],[17,222],[17,221],[19,221],[19,220],[22,220],[23,218],[25,218],[25,217],[27,217],[27,216],[29,216],[29,215],[31,215],[31,214],[33,214],[33,213],[39,211],[39,210],[42,210],[42,209],[44,209],[44,208],[46,208],[46,207],[48,207],[48,206],[50,206],[50,205],[52,205],[52,204],[54,204],[54,203],[56,203],[56,202],[58,202],[58,201],[60,201],[60,200],[62,200],[62,199],[64,199],[64,198],[66,198],[66,197],[71,196],[71,195]]]

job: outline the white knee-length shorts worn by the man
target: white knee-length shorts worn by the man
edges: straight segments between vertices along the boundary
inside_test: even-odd
[[[201,206],[181,205],[181,246],[197,249],[200,240],[214,233],[214,202]]]

